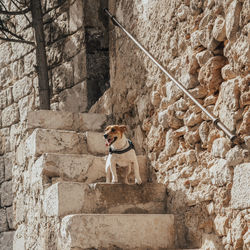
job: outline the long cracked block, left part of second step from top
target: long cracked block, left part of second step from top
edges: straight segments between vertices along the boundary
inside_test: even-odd
[[[27,156],[44,153],[83,154],[87,152],[85,136],[72,131],[35,129],[26,140]]]

